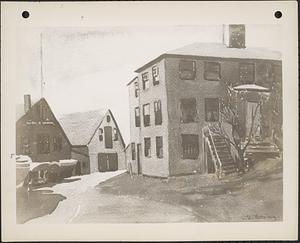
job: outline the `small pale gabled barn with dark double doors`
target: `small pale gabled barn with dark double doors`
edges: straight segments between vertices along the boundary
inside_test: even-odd
[[[59,121],[82,174],[125,169],[124,140],[110,110],[67,114]]]

